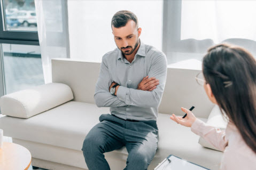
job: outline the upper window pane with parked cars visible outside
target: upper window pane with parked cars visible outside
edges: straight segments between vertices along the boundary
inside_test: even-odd
[[[37,31],[34,0],[4,0],[5,30]]]

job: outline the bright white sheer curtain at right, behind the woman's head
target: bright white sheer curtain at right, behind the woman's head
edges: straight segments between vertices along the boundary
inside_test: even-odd
[[[165,42],[170,67],[200,69],[207,49],[220,43],[242,46],[256,58],[256,1],[168,2],[177,9],[168,11],[173,18],[169,16],[172,27],[167,31],[176,31]]]

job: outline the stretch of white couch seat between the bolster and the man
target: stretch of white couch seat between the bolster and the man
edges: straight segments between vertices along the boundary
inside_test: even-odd
[[[108,110],[70,101],[29,119],[2,117],[0,127],[6,136],[80,150],[86,134]]]

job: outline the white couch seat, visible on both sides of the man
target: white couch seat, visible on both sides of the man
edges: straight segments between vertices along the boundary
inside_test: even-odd
[[[5,135],[17,139],[81,150],[84,137],[99,123],[99,116],[107,113],[109,108],[71,101],[29,119],[2,117],[0,128],[4,129]],[[158,116],[159,142],[154,164],[160,163],[169,154],[203,166],[219,164],[222,152],[201,147],[199,136],[193,134],[190,128],[176,124],[169,116]],[[118,152],[128,154],[126,148]]]

